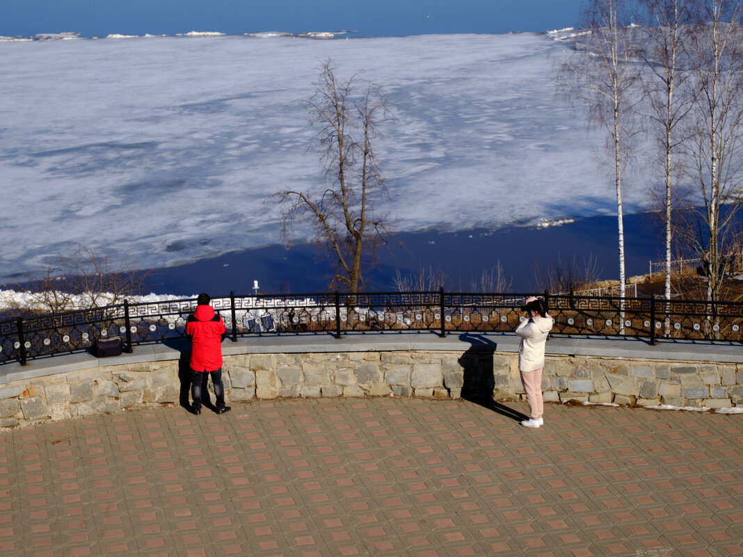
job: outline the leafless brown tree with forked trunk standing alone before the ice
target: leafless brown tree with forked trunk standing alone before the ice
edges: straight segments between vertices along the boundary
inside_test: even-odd
[[[387,199],[385,180],[374,152],[382,137],[379,126],[389,120],[389,97],[380,85],[354,74],[336,76],[330,59],[319,68],[314,95],[299,102],[319,131],[311,149],[319,152],[325,190],[285,189],[271,199],[282,210],[285,241],[291,242],[295,219],[309,222],[315,241],[336,261],[330,288],[357,292],[363,287],[363,266],[389,235],[392,222],[380,211]]]

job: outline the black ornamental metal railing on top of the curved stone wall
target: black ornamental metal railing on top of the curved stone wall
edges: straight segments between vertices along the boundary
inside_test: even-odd
[[[317,293],[212,298],[230,339],[256,334],[354,331],[512,332],[528,296],[520,293]],[[743,303],[543,293],[553,335],[656,337],[743,342]],[[121,336],[137,345],[184,339],[195,299],[141,302],[0,322],[0,364],[90,349]]]

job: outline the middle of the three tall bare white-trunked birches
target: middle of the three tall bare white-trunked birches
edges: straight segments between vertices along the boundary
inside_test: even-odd
[[[680,131],[691,109],[692,96],[684,90],[686,41],[690,1],[644,0],[649,21],[640,34],[638,53],[646,63],[644,73],[649,118],[655,124],[663,158],[663,224],[665,228],[666,280],[664,297],[671,298],[672,200],[681,172],[675,156],[684,141]],[[666,322],[666,329],[669,323]],[[668,330],[666,330],[666,333]]]

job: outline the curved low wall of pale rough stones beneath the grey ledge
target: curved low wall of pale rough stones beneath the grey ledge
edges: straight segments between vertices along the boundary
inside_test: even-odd
[[[227,401],[274,397],[522,400],[518,356],[488,351],[373,351],[224,357]],[[187,360],[109,365],[7,382],[0,427],[186,404]],[[743,365],[548,356],[545,400],[626,405],[743,406]]]

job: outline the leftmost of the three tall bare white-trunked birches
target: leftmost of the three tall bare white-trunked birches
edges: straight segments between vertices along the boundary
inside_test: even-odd
[[[629,163],[633,107],[637,102],[632,44],[635,28],[629,25],[624,0],[591,0],[583,19],[588,33],[577,44],[578,53],[563,60],[558,79],[569,96],[588,108],[588,123],[606,131],[617,195],[619,281],[624,297],[622,178]]]

